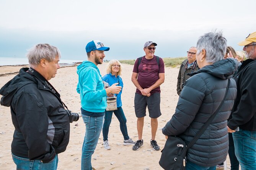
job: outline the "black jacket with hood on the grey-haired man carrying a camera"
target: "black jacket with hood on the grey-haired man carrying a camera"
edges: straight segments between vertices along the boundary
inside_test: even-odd
[[[10,106],[15,127],[11,152],[47,163],[66,150],[68,115],[54,93],[27,70],[20,69],[0,90],[1,105]]]

